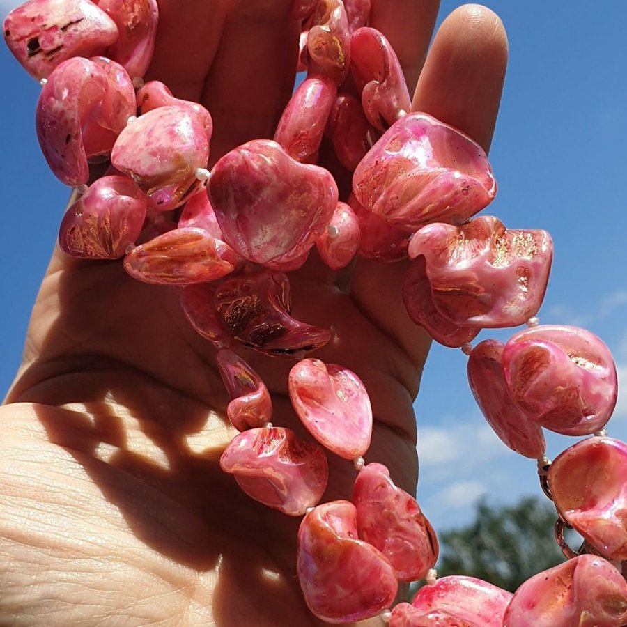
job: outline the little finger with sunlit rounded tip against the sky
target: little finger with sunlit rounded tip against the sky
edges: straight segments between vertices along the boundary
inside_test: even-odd
[[[433,40],[412,102],[490,148],[505,68],[507,38],[490,9],[468,4],[455,10]]]

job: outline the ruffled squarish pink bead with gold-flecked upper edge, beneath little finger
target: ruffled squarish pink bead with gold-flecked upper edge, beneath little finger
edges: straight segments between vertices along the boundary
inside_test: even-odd
[[[553,256],[546,231],[518,231],[491,215],[461,226],[428,224],[409,245],[423,255],[433,303],[456,325],[516,327],[542,304]]]

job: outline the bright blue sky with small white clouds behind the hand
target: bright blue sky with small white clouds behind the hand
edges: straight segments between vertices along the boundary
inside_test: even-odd
[[[0,0],[5,15],[19,2]],[[457,3],[442,2],[442,16]],[[494,0],[509,33],[510,65],[491,161],[499,183],[489,212],[555,242],[543,323],[581,325],[610,346],[627,381],[627,2]],[[68,196],[49,173],[34,131],[39,86],[0,47],[5,190],[0,248],[0,387],[20,361],[29,312]],[[483,332],[506,339],[511,332]],[[535,463],[509,451],[479,414],[465,357],[434,346],[416,403],[418,497],[436,529],[467,522],[482,494],[539,495]],[[627,398],[608,426],[627,440]],[[550,457],[572,438],[549,438]]]

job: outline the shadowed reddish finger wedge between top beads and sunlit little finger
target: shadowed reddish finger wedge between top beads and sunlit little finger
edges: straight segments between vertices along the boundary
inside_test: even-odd
[[[372,0],[370,25],[392,44],[410,93],[424,64],[439,8],[440,0]]]

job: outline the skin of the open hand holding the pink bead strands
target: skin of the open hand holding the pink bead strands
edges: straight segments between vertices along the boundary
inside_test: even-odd
[[[150,78],[206,104],[212,162],[272,137],[293,83],[289,0],[160,1]],[[435,0],[373,0],[372,25],[417,88],[413,107],[488,148],[506,62],[500,21],[461,8],[422,60]],[[289,63],[284,61],[289,59]],[[251,98],[255,95],[256,98]],[[364,381],[376,424],[366,456],[398,485],[417,481],[412,401],[428,338],[400,299],[403,264],[358,261],[350,277],[312,258],[291,277],[293,315],[332,327],[316,353]],[[286,398],[293,360],[242,350],[270,388],[273,422],[302,428]],[[209,344],[170,288],[120,262],[58,250],[0,421],[0,624],[320,624],[295,577],[300,520],[247,497],[219,470],[235,431]],[[350,497],[355,470],[330,455],[323,500]],[[364,624],[379,624],[378,619]]]

